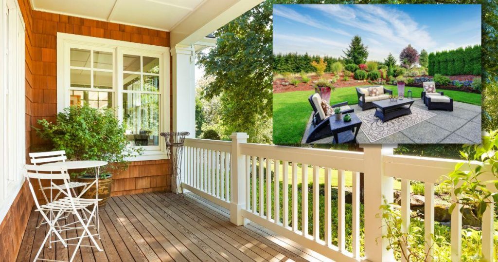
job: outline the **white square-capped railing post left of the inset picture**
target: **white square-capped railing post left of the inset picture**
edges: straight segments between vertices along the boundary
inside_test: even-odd
[[[246,133],[232,133],[230,137],[232,138],[230,222],[243,226],[248,223],[247,219],[242,217],[242,210],[246,208],[246,161],[241,154],[240,144],[247,143],[249,136]]]

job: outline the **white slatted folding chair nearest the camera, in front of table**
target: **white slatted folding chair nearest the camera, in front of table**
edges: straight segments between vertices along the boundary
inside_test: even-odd
[[[83,238],[88,237],[91,240],[91,244],[93,244],[93,246],[85,246],[85,247],[96,247],[98,251],[102,251],[102,249],[99,247],[94,238],[94,236],[96,236],[97,234],[92,235],[92,233],[90,233],[89,230],[90,223],[92,222],[92,219],[95,217],[97,206],[101,199],[86,199],[86,198],[73,197],[69,188],[69,183],[70,183],[69,174],[67,173],[66,167],[24,165],[24,169],[25,169],[24,174],[28,182],[29,189],[31,190],[31,194],[33,195],[34,203],[36,205],[36,211],[40,212],[40,215],[43,217],[43,220],[45,220],[47,227],[49,227],[47,235],[45,236],[45,239],[41,243],[40,249],[38,250],[38,253],[36,254],[33,261],[37,260],[54,261],[54,260],[38,259],[47,240],[49,240],[49,248],[51,248],[50,245],[51,243],[56,243],[56,242],[61,242],[65,248],[67,248],[68,245],[76,246],[71,256],[71,259],[69,260],[70,262],[74,260],[74,257],[79,247],[82,246],[81,242]],[[30,179],[49,180],[50,186],[53,187],[54,189],[59,190],[63,197],[60,199],[54,199],[47,204],[40,205]],[[64,184],[56,185],[53,182],[53,180],[62,180]],[[79,212],[86,214],[88,218],[82,218]],[[50,214],[50,216],[47,216],[47,214]],[[59,218],[66,214],[67,215],[73,214],[76,217],[75,222],[69,225],[63,225],[63,226],[57,225]],[[81,226],[78,226],[78,224]],[[64,239],[60,235],[62,231],[75,230],[75,229],[83,230],[81,236]],[[56,236],[56,240],[54,241],[52,241],[51,238],[52,234]],[[69,240],[78,240],[78,243],[69,244],[68,243]]]

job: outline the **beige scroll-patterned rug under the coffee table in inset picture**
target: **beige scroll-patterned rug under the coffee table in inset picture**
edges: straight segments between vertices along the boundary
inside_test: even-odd
[[[411,114],[396,117],[384,123],[382,123],[382,120],[373,115],[375,113],[375,109],[363,111],[361,113],[357,113],[356,115],[363,122],[361,127],[363,133],[367,136],[370,142],[375,142],[381,138],[390,136],[436,115],[416,106],[412,106],[410,109]]]

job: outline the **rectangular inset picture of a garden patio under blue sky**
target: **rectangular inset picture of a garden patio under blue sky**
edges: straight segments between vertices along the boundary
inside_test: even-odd
[[[274,144],[481,142],[480,4],[274,4],[273,57]]]

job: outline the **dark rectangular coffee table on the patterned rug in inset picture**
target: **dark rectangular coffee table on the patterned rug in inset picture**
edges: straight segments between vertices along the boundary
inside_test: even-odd
[[[373,101],[375,107],[375,116],[380,118],[382,122],[391,120],[402,115],[411,114],[410,107],[413,104],[412,99],[403,99],[397,101],[390,101],[389,99]]]

